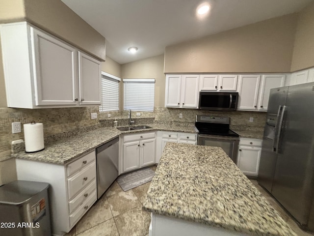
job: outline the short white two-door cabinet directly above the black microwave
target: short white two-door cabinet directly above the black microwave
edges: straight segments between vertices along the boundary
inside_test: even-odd
[[[200,90],[236,91],[237,75],[200,75]]]

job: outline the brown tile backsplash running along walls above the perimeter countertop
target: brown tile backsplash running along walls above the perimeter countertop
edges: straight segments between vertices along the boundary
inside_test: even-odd
[[[98,113],[97,119],[91,119],[90,117],[90,114],[94,112]],[[140,116],[136,116],[136,113],[140,113]],[[180,113],[182,113],[182,118],[179,118]],[[108,118],[108,114],[110,114],[110,118]],[[146,121],[151,122],[154,118],[157,122],[165,121],[186,124],[194,123],[196,115],[230,117],[231,129],[235,130],[262,131],[266,120],[265,112],[212,112],[165,107],[155,107],[154,112],[132,111],[131,117],[137,118],[135,124],[142,124]],[[249,122],[251,117],[254,119],[254,122]],[[127,125],[128,111],[99,113],[98,106],[51,109],[0,108],[0,161],[10,158],[11,142],[18,139],[24,140],[23,124],[30,123],[32,120],[44,124],[44,139],[46,143],[76,135],[78,129],[85,132],[99,126],[113,126],[114,118],[119,119],[119,125]],[[22,124],[22,132],[12,134],[11,123],[18,121]]]

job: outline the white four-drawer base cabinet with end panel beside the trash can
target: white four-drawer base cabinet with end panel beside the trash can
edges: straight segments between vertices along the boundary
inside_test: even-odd
[[[68,165],[16,159],[19,180],[50,184],[52,235],[70,232],[97,200],[96,152]]]

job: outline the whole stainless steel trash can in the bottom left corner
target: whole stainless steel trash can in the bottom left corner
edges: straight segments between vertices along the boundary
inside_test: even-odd
[[[51,236],[49,183],[17,180],[0,187],[0,236]]]

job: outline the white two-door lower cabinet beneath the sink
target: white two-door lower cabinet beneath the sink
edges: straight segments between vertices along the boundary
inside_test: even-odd
[[[121,140],[123,145],[121,173],[155,163],[155,132],[126,134]]]

